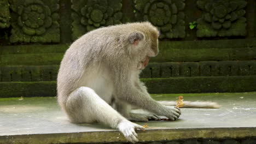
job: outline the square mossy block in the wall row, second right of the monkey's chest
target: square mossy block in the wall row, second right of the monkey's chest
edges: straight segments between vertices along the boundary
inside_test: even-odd
[[[176,77],[176,76],[179,76],[179,63],[178,62],[162,63],[162,65],[161,65],[161,76],[162,77]]]

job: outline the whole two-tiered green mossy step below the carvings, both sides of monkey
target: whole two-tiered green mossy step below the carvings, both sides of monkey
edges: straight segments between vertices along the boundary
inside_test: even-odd
[[[1,46],[0,65],[60,64],[68,47],[65,44]],[[160,41],[159,51],[150,62],[251,61],[256,58],[256,43],[254,39]]]

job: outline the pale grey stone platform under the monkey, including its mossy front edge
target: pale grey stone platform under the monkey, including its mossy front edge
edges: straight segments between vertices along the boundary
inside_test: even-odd
[[[215,101],[220,109],[182,109],[178,121],[150,121],[139,141],[256,137],[256,92],[154,94],[156,100]],[[70,123],[55,97],[0,98],[0,143],[126,142],[101,124]]]

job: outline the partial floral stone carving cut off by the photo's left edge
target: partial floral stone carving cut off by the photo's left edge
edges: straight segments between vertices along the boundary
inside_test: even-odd
[[[10,26],[10,11],[8,0],[0,1],[0,28],[7,28]]]

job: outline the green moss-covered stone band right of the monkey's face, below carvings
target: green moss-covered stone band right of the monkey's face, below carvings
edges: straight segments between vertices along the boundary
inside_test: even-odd
[[[160,41],[150,62],[232,61],[256,57],[256,40]]]

